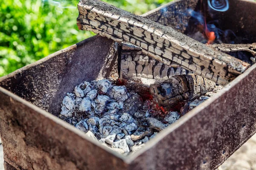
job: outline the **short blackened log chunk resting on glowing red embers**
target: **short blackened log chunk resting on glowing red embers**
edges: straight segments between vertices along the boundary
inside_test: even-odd
[[[154,100],[167,111],[180,102],[191,101],[209,91],[215,83],[196,74],[178,75],[151,85]]]

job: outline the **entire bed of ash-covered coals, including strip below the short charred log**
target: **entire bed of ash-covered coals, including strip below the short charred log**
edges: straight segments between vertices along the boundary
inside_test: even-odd
[[[205,99],[190,102],[187,109],[181,105],[175,111],[165,111],[153,101],[148,85],[136,82],[116,85],[113,80],[94,80],[77,85],[73,93],[64,97],[59,118],[91,139],[128,155],[176,122],[184,110],[190,111]]]

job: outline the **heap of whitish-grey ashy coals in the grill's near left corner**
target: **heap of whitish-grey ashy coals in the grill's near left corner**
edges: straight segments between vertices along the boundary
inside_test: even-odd
[[[83,82],[76,86],[73,93],[67,94],[63,99],[60,118],[85,132],[88,137],[127,155],[134,150],[132,147],[139,147],[154,132],[166,126],[151,118],[153,123],[143,127],[150,113],[137,113],[142,122],[134,116],[142,106],[143,100],[138,94],[128,93],[125,86],[116,86],[102,79]]]

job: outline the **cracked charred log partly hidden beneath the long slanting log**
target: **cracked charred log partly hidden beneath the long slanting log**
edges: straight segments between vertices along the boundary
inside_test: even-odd
[[[166,65],[142,53],[141,48],[129,43],[121,43],[119,52],[119,78],[141,81],[141,78],[163,81],[175,75],[189,74],[184,68]]]

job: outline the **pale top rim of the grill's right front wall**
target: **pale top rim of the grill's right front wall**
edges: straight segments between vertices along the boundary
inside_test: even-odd
[[[177,120],[177,122],[173,123],[172,125],[169,125],[168,127],[166,127],[164,130],[160,131],[153,139],[151,139],[150,141],[148,141],[144,147],[142,147],[140,150],[138,150],[137,152],[135,152],[133,155],[129,155],[127,156],[126,159],[126,163],[129,164],[131,163],[134,159],[136,159],[138,156],[140,156],[141,154],[143,154],[146,150],[150,149],[151,147],[153,147],[154,145],[156,145],[160,140],[163,140],[168,134],[172,133],[174,130],[176,130],[178,127],[180,127],[181,125],[183,125],[184,123],[186,123],[189,119],[191,119],[192,117],[194,117],[195,115],[197,115],[198,113],[200,113],[200,111],[204,110],[205,108],[207,108],[209,105],[212,104],[212,102],[214,102],[215,100],[217,100],[220,96],[224,95],[225,93],[228,93],[228,91],[233,88],[236,84],[238,84],[242,79],[246,78],[248,74],[250,74],[251,71],[256,70],[256,64],[252,65],[250,68],[248,68],[243,74],[239,75],[238,77],[236,77],[236,79],[234,79],[232,82],[230,82],[229,84],[227,84],[226,86],[224,86],[224,88],[221,89],[221,91],[219,91],[217,94],[215,94],[214,96],[212,96],[211,98],[209,98],[208,100],[206,100],[205,102],[201,103],[200,105],[198,105],[195,109],[193,109],[192,111],[189,111],[186,115],[182,116],[180,119]],[[254,132],[255,133],[255,132]],[[252,133],[250,135],[253,136]],[[235,149],[235,151],[241,147],[241,145],[244,144],[244,142],[246,142],[248,139],[245,139],[243,142],[241,142]],[[235,152],[234,151],[234,152]],[[233,153],[230,153],[230,156]],[[229,157],[229,156],[228,156]],[[228,158],[227,157],[227,158]],[[224,161],[223,161],[224,162]],[[221,165],[223,162],[221,162],[219,165]],[[217,167],[218,167],[217,166]]]

